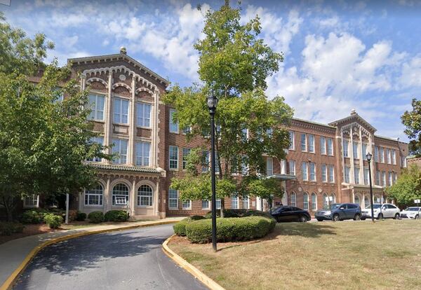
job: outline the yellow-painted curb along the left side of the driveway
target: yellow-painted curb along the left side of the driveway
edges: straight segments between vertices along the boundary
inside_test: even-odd
[[[15,284],[16,280],[18,279],[20,273],[23,272],[23,270],[27,268],[27,265],[29,264],[29,262],[32,261],[32,258],[34,258],[34,256],[36,256],[36,254],[38,254],[38,252],[41,251],[41,249],[44,249],[45,247],[48,247],[51,244],[56,244],[58,242],[62,242],[65,240],[74,239],[76,237],[83,237],[84,235],[95,235],[99,233],[115,232],[118,230],[130,230],[133,228],[145,228],[147,226],[159,226],[159,225],[166,225],[168,223],[176,223],[176,222],[177,221],[156,221],[155,223],[146,223],[146,224],[140,224],[140,225],[134,225],[134,226],[121,226],[119,228],[107,228],[107,229],[102,229],[102,230],[91,230],[91,231],[87,230],[86,232],[64,235],[62,237],[55,237],[51,240],[43,242],[42,244],[39,244],[38,246],[34,247],[34,249],[32,249],[32,251],[30,251],[29,254],[27,254],[27,256],[22,261],[22,263],[20,263],[18,268],[16,268],[16,270],[12,272],[12,274],[8,277],[8,279],[6,279],[6,282],[4,282],[4,284],[0,286],[0,290],[11,289],[12,286]]]

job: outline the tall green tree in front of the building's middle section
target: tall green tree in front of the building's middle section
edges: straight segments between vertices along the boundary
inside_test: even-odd
[[[200,56],[201,85],[194,84],[189,88],[173,85],[164,98],[164,102],[176,109],[173,118],[180,127],[191,129],[187,138],[200,136],[209,140],[210,117],[206,97],[218,97],[215,147],[220,198],[241,194],[232,191],[230,184],[238,183],[232,179],[232,173],[257,177],[265,174],[263,154],[279,159],[285,157],[284,149],[289,145],[286,125],[293,116],[293,110],[283,97],[269,99],[265,95],[266,79],[279,69],[283,56],[258,38],[261,29],[258,16],[241,25],[240,8],[231,8],[228,2],[219,11],[206,12],[205,38],[194,46]],[[197,160],[193,164],[197,165]],[[248,166],[246,174],[241,169],[244,164]],[[226,190],[222,188],[222,182]],[[188,184],[192,183],[209,191],[189,188]],[[210,177],[188,174],[184,180],[173,179],[184,200],[208,199],[210,186],[199,186],[202,183],[210,184]],[[260,194],[261,191],[253,193]]]

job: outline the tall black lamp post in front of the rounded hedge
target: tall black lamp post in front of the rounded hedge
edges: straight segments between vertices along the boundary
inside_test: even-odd
[[[208,109],[210,113],[210,143],[212,146],[212,157],[210,163],[210,174],[212,174],[212,247],[216,251],[216,185],[215,185],[215,111],[218,105],[218,98],[208,97]]]

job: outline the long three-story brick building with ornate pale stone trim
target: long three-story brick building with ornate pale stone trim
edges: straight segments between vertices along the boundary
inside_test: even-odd
[[[114,143],[107,153],[120,156],[113,162],[91,160],[100,181],[76,198],[77,207],[87,213],[106,212],[125,209],[119,204],[128,199],[131,216],[139,219],[208,212],[210,201],[183,202],[171,189],[171,178],[183,174],[183,157],[203,140],[187,142],[182,128],[172,122],[174,110],[161,102],[168,81],[129,57],[124,48],[119,54],[74,58],[69,63],[73,77],[81,74],[81,88],[90,85],[91,121],[101,134],[95,141]],[[366,152],[373,153],[376,198],[399,177],[408,154],[408,144],[375,135],[375,128],[355,111],[329,124],[294,118],[288,130],[286,160],[265,157],[268,175],[281,179],[286,191],[275,203],[310,212],[328,202],[356,202],[364,208],[369,200]],[[267,202],[227,198],[225,206],[262,209]]]

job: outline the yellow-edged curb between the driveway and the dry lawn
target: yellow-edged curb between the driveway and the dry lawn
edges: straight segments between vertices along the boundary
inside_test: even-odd
[[[213,279],[210,279],[210,277],[206,276],[201,272],[198,268],[194,267],[191,263],[187,262],[184,258],[178,256],[178,254],[175,254],[175,252],[168,247],[168,242],[171,241],[171,239],[175,235],[172,235],[171,237],[168,237],[165,242],[162,244],[163,252],[170,258],[175,261],[178,265],[180,265],[181,268],[185,269],[187,272],[192,274],[196,279],[199,279],[203,284],[208,286],[211,290],[225,290],[224,287],[222,287],[217,282],[213,281]]]

